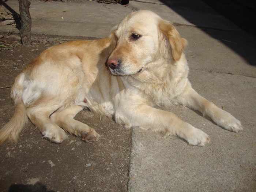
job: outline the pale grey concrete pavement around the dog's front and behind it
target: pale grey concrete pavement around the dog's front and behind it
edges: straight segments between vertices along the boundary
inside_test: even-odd
[[[18,11],[16,1],[6,3]],[[170,111],[210,135],[211,143],[189,146],[178,138],[133,128],[128,190],[255,191],[255,37],[200,0],[167,4],[140,0],[130,1],[127,7],[94,1],[32,1],[32,33],[100,38],[139,9],[155,11],[175,23],[189,42],[185,53],[192,86],[238,118],[244,131],[226,131],[197,112],[174,106]],[[0,28],[9,30],[18,32],[13,26]]]

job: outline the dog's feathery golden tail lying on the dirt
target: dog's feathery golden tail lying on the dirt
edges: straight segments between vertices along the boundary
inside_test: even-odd
[[[0,129],[0,143],[6,139],[18,140],[18,136],[27,121],[26,106],[22,101],[23,82],[25,74],[21,73],[15,79],[11,90],[11,97],[14,100],[15,112],[11,120]]]

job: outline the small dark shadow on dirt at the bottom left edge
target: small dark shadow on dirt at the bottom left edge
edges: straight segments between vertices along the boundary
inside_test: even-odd
[[[41,182],[37,182],[34,185],[24,185],[24,184],[12,184],[8,192],[54,192],[48,190],[45,185]]]

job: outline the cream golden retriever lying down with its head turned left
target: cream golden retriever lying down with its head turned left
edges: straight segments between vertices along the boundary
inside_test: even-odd
[[[53,143],[61,143],[67,132],[97,141],[100,135],[93,128],[74,120],[83,108],[114,116],[125,128],[176,135],[197,146],[207,144],[209,136],[163,109],[185,105],[220,127],[242,131],[239,120],[193,90],[186,44],[170,22],[140,10],[126,16],[109,37],[46,49],[15,79],[15,112],[0,130],[0,142],[16,141],[27,118]]]

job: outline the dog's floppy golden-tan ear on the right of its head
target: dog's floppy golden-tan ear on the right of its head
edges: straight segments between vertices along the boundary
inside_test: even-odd
[[[172,50],[172,57],[175,61],[180,60],[183,49],[187,40],[180,37],[175,27],[166,20],[159,20],[159,29],[167,37]]]

